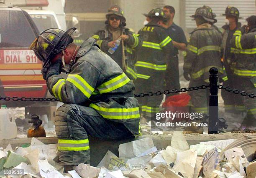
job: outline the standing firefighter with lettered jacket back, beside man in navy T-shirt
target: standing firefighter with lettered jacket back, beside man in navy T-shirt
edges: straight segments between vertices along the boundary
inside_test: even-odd
[[[144,14],[149,21],[138,34],[143,38],[140,53],[137,53],[135,64],[137,70],[136,93],[156,92],[164,89],[164,76],[167,60],[173,51],[172,39],[161,25],[166,20],[160,8]],[[139,98],[144,117],[149,121],[159,112],[161,96]]]

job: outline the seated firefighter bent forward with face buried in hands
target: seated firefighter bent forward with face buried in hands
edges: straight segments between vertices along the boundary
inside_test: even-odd
[[[65,103],[56,112],[55,130],[59,161],[66,171],[90,163],[88,135],[101,139],[141,135],[133,82],[95,39],[88,38],[80,47],[72,43],[75,29],[45,30],[31,45],[44,62],[42,73],[50,93]],[[63,70],[69,73],[64,78]]]

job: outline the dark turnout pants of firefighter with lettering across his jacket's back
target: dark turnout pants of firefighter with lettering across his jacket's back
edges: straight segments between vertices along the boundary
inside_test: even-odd
[[[148,93],[164,90],[164,72],[155,72],[151,74],[148,79],[137,78],[135,81],[135,93]],[[140,110],[143,113],[144,118],[148,121],[155,118],[155,114],[159,113],[159,105],[163,100],[163,95],[153,95],[138,97]]]

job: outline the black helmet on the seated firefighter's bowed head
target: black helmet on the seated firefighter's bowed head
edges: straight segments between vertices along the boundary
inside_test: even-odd
[[[73,42],[71,35],[76,29],[73,27],[64,32],[58,28],[50,28],[44,30],[33,41],[30,45],[30,50],[33,50],[36,57],[44,63],[43,69],[54,55],[64,50],[69,43]]]

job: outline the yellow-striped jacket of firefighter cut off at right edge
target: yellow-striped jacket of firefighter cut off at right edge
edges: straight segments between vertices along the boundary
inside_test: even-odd
[[[231,40],[236,55],[234,73],[250,78],[256,87],[256,28],[242,34],[236,30]]]

